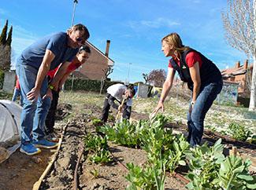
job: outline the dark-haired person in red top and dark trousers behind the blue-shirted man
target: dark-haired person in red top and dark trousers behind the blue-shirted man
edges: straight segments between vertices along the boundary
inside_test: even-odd
[[[72,60],[72,63],[69,65],[69,68],[66,70],[65,74],[62,76],[59,85],[58,90],[52,90],[53,93],[53,100],[51,101],[50,109],[48,111],[47,117],[46,117],[46,123],[44,125],[44,132],[46,133],[46,140],[57,142],[58,138],[61,137],[60,134],[56,133],[54,131],[54,124],[55,124],[55,112],[57,110],[58,105],[58,97],[61,90],[61,86],[64,84],[65,80],[68,79],[69,75],[72,74],[73,71],[76,70],[76,68],[79,68],[82,64],[84,64],[87,59],[91,55],[91,49],[88,46],[82,46],[79,49],[79,52],[76,54],[76,57],[74,60]],[[58,68],[60,68],[59,66]],[[56,71],[58,71],[58,68],[54,69],[53,71],[47,72],[47,79],[48,83],[54,79],[54,75]]]

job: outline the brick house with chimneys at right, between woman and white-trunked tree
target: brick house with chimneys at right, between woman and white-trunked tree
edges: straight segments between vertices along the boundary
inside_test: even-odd
[[[248,60],[245,60],[243,65],[240,65],[240,61],[236,62],[235,68],[225,68],[221,70],[222,78],[224,82],[238,82],[238,95],[247,97],[250,89],[248,88],[247,81],[251,80],[253,64],[248,64]]]

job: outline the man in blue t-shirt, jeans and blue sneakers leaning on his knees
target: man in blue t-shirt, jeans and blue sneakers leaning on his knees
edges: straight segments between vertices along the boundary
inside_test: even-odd
[[[51,90],[58,90],[58,82],[71,64],[80,46],[89,38],[87,27],[76,24],[65,32],[46,35],[24,49],[17,59],[17,77],[24,97],[21,114],[20,152],[35,155],[39,148],[54,148],[57,144],[44,139],[43,125],[50,108]],[[46,73],[57,68],[58,72],[48,86]],[[31,137],[32,133],[32,137]]]

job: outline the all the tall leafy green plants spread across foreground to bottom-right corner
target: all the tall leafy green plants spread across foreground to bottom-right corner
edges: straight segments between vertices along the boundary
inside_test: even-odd
[[[179,165],[189,166],[187,178],[191,182],[186,185],[188,189],[256,188],[256,177],[247,174],[250,159],[243,162],[236,155],[224,157],[221,139],[213,147],[203,144],[190,150],[183,134],[174,135],[171,129],[164,130],[167,121],[165,116],[157,115],[150,121],[123,120],[114,126],[97,127],[97,131],[105,133],[109,141],[143,148],[147,152],[148,163],[145,166],[127,164],[129,172],[124,177],[130,185],[126,189],[164,189],[165,171],[173,174]]]

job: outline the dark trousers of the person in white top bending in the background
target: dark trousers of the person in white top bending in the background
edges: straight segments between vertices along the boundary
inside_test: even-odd
[[[108,117],[109,117],[109,109],[110,109],[110,103],[109,103],[109,99],[115,99],[116,98],[112,97],[109,93],[106,94],[106,98],[105,98],[105,102],[104,102],[104,106],[102,109],[102,122],[106,122]],[[119,102],[119,104],[121,104],[120,101],[117,100],[117,102]],[[125,104],[125,103],[124,103]],[[130,119],[131,117],[131,113],[132,113],[132,106],[127,106],[126,104],[123,106],[123,118],[124,119]]]

